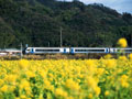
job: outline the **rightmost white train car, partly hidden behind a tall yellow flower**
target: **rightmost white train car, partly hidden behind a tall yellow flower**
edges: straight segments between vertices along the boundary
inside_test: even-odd
[[[132,53],[132,48],[127,47],[127,48],[110,48],[110,53]]]

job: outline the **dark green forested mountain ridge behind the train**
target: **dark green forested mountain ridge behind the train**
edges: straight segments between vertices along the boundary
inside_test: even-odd
[[[114,46],[120,37],[131,45],[132,14],[80,1],[0,0],[0,47]]]

